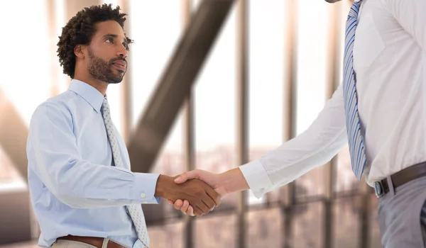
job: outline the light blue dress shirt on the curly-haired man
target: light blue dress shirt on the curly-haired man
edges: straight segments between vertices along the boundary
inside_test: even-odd
[[[133,173],[117,133],[125,168],[114,167],[102,118],[104,96],[72,80],[64,93],[35,109],[28,142],[28,186],[41,235],[50,247],[66,235],[109,237],[143,247],[124,205],[154,203],[159,174]]]

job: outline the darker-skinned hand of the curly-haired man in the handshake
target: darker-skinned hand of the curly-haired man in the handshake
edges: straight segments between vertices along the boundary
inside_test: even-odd
[[[220,205],[219,193],[203,181],[187,178],[180,184],[175,184],[176,177],[160,175],[154,196],[171,201],[185,200],[188,205],[192,205],[193,213],[197,216],[209,213],[215,206]]]

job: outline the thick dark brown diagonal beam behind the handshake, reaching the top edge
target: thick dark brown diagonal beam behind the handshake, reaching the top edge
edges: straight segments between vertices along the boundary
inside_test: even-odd
[[[203,0],[191,18],[129,142],[131,167],[148,172],[202,68],[234,0]]]

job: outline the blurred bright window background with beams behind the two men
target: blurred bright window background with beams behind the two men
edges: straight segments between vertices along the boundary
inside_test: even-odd
[[[261,157],[306,130],[342,78],[349,0],[1,1],[1,248],[37,247],[28,123],[70,83],[56,55],[61,28],[104,3],[129,14],[135,41],[124,81],[107,92],[133,171],[222,172]],[[347,147],[260,199],[226,196],[202,218],[163,200],[143,210],[153,248],[381,247],[376,196],[356,181]]]

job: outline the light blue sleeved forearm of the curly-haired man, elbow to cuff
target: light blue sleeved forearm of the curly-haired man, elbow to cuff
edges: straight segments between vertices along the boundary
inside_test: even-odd
[[[62,167],[60,162],[52,162],[49,168],[40,168],[40,178],[72,208],[158,203],[154,197],[158,174],[133,173],[79,160]]]

